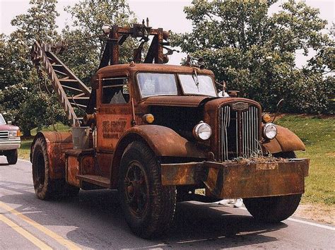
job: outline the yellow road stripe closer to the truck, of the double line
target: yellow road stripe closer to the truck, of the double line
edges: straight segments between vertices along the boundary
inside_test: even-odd
[[[74,242],[69,241],[69,239],[64,239],[60,235],[56,234],[55,232],[52,232],[51,230],[47,229],[47,227],[44,227],[40,225],[39,223],[35,222],[35,220],[32,220],[28,218],[27,216],[23,215],[22,213],[18,212],[17,210],[11,208],[7,204],[0,201],[0,207],[7,210],[9,213],[12,213],[13,215],[18,216],[20,219],[24,220],[25,222],[29,223],[33,227],[37,228],[37,230],[40,230],[44,234],[47,234],[47,236],[51,237],[52,239],[56,240],[61,244],[62,246],[65,246],[67,249],[81,249],[79,246],[74,244]]]

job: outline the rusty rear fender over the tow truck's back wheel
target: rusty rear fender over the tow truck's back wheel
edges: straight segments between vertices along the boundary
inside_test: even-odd
[[[33,146],[37,138],[44,138],[47,143],[49,160],[49,177],[51,179],[65,178],[64,151],[73,148],[71,132],[39,132],[30,148],[30,162],[33,160]]]

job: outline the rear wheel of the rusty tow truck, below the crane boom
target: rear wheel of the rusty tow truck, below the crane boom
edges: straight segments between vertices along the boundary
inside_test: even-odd
[[[49,178],[49,159],[47,143],[43,138],[37,138],[33,146],[33,183],[35,194],[41,200],[76,196],[79,189],[66,184],[64,179]]]

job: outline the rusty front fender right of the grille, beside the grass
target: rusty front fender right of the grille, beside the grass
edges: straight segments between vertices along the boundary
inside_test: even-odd
[[[264,148],[270,153],[289,152],[295,150],[305,150],[305,144],[300,138],[282,126],[277,127],[277,136],[271,141],[263,143]]]

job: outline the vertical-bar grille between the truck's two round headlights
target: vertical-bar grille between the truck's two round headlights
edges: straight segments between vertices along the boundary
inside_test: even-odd
[[[219,114],[221,160],[257,155],[259,153],[259,110],[257,107],[249,106],[247,110],[237,112],[230,105],[225,105],[221,107]],[[242,131],[239,131],[239,126]]]

